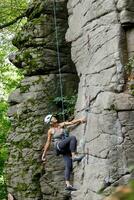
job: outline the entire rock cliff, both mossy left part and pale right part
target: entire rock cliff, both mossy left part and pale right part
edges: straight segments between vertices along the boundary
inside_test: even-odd
[[[56,7],[64,93],[77,88],[78,74],[75,114],[87,118],[73,133],[85,158],[74,166],[74,185],[79,190],[71,199],[102,200],[113,186],[133,175],[134,98],[124,65],[134,54],[134,2],[69,0],[69,18],[66,3],[57,0]],[[41,163],[48,128],[43,117],[55,109],[51,97],[59,96],[53,1],[33,1],[27,17],[13,41],[19,51],[10,56],[25,69],[25,79],[9,98],[8,191],[17,200],[67,200],[62,159],[51,149],[47,164]]]

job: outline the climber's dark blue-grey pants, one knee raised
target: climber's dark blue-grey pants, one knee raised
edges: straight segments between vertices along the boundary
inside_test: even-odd
[[[70,174],[72,171],[72,157],[71,157],[71,152],[76,152],[77,148],[77,140],[75,136],[70,136],[62,141],[59,142],[58,144],[59,149],[60,149],[60,154],[63,155],[64,158],[64,163],[65,163],[65,180],[69,181],[70,180]]]

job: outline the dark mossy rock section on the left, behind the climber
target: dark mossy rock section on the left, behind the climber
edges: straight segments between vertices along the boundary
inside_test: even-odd
[[[65,42],[66,3],[58,0],[56,4],[59,50],[63,93],[74,95],[78,77]],[[48,129],[43,120],[55,111],[52,100],[60,96],[53,1],[34,1],[27,17],[28,22],[13,40],[19,50],[10,55],[18,68],[25,69],[25,78],[9,97],[12,131],[6,165],[8,192],[17,200],[67,200],[70,194],[64,190],[61,157],[56,157],[51,148],[47,163],[41,162]]]

